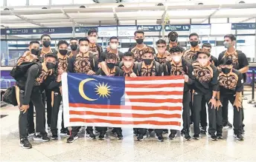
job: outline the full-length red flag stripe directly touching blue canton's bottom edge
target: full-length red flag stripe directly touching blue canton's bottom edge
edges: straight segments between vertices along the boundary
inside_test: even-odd
[[[171,103],[170,103],[171,104]],[[69,107],[86,107],[92,109],[134,109],[134,110],[182,110],[182,107],[138,107],[125,105],[103,105],[103,104],[71,104]]]

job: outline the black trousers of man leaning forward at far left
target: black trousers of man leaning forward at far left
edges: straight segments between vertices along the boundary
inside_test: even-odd
[[[39,87],[33,87],[31,92],[31,101],[36,109],[36,132],[40,132],[42,135],[47,135],[45,132],[44,126],[44,114],[45,109],[42,104],[42,93],[39,90]],[[23,99],[24,99],[25,91],[20,90],[19,87],[16,87],[16,99],[19,104],[19,107],[22,107]],[[27,112],[19,112],[19,138],[28,138],[27,132],[27,124],[28,124],[28,111]]]

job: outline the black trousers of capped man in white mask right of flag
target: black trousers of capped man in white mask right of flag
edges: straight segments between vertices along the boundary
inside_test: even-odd
[[[202,110],[202,99],[204,99],[207,104],[212,96],[212,91],[209,90],[207,94],[202,94],[202,92],[193,93],[193,131],[195,135],[200,134],[200,112]],[[217,118],[216,109],[211,108],[211,104],[208,104],[208,118],[209,118],[209,134],[215,134],[217,131]]]

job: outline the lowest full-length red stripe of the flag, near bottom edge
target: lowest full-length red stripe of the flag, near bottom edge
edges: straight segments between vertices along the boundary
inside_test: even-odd
[[[70,118],[70,122],[84,122],[86,124],[90,123],[106,123],[106,124],[153,124],[153,125],[159,125],[159,126],[181,126],[181,122],[179,121],[109,121],[109,120],[103,120],[98,118],[91,118],[91,119],[85,119],[85,118]]]

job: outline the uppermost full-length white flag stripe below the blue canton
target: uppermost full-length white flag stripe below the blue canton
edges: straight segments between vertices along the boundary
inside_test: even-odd
[[[69,107],[69,110],[74,111],[89,111],[89,112],[114,112],[114,113],[127,113],[127,114],[179,114],[182,115],[182,110],[134,110],[134,109],[95,109],[88,107]]]

